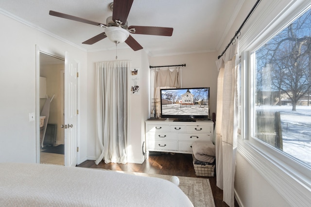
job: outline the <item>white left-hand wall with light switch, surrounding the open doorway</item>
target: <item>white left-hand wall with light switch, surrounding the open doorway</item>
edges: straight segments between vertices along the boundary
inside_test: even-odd
[[[35,121],[29,113],[36,105],[36,45],[64,58],[68,51],[81,65],[81,89],[86,97],[86,51],[59,41],[33,27],[0,14],[0,162],[36,162]],[[86,98],[80,101],[81,143],[86,143]],[[39,114],[36,114],[39,118]],[[86,145],[86,144],[85,144]],[[80,158],[86,148],[80,148]]]

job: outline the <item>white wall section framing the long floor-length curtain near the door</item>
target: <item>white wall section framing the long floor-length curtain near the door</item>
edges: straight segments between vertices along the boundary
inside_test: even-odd
[[[125,44],[125,43],[124,43]],[[115,50],[89,52],[87,55],[87,158],[97,159],[100,148],[96,147],[96,63],[104,61],[115,61]],[[144,140],[143,122],[148,116],[148,85],[149,68],[146,63],[147,57],[144,50],[133,51],[132,49],[118,49],[118,60],[131,60],[131,68],[140,69],[140,95],[129,97],[129,133],[128,133],[128,162],[142,163],[142,142]]]

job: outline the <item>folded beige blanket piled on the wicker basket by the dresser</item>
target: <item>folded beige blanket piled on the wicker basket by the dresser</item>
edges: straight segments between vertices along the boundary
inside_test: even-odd
[[[215,160],[216,148],[211,141],[196,141],[192,144],[194,157],[203,162],[212,163]]]

